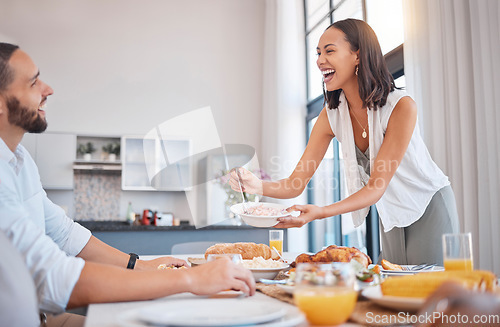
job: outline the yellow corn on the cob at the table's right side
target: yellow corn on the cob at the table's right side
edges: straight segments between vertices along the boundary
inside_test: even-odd
[[[381,284],[382,294],[426,298],[444,282],[460,284],[471,290],[495,291],[497,280],[490,271],[438,271],[409,276],[389,277]]]

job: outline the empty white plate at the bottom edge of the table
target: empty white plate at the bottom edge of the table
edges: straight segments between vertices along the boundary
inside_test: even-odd
[[[239,326],[273,321],[285,314],[285,308],[273,303],[193,299],[141,308],[136,317],[142,322],[160,326]]]

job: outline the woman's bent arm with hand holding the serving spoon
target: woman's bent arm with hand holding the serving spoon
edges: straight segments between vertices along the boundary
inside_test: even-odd
[[[233,190],[239,192],[239,178],[244,192],[261,194],[278,199],[288,199],[299,196],[314,175],[321,160],[323,160],[330,141],[334,136],[330,128],[330,123],[328,122],[326,108],[323,108],[318,116],[318,120],[314,124],[304,154],[290,177],[279,181],[261,181],[248,171],[242,170],[239,177],[237,173],[233,171],[231,173],[229,185],[231,185]]]

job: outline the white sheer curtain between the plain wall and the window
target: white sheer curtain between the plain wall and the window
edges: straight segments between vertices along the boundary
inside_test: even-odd
[[[261,167],[288,177],[305,147],[306,77],[302,0],[266,0]],[[305,204],[303,195],[282,201]],[[307,226],[288,230],[288,250],[307,251]]]

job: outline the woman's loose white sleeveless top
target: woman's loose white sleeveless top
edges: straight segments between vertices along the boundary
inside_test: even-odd
[[[370,169],[384,141],[387,124],[392,110],[402,98],[408,96],[402,90],[389,93],[387,103],[377,110],[368,110],[368,130],[370,135]],[[347,180],[348,196],[359,191],[369,179],[363,168],[358,165],[349,108],[344,93],[340,94],[337,109],[327,108],[332,132],[342,144],[344,171]],[[448,177],[432,160],[420,136],[418,122],[413,131],[408,149],[392,177],[387,189],[376,203],[377,211],[388,232],[394,227],[407,227],[417,221],[425,212],[433,195],[441,188],[450,185]],[[369,208],[352,212],[354,225],[360,226]]]

